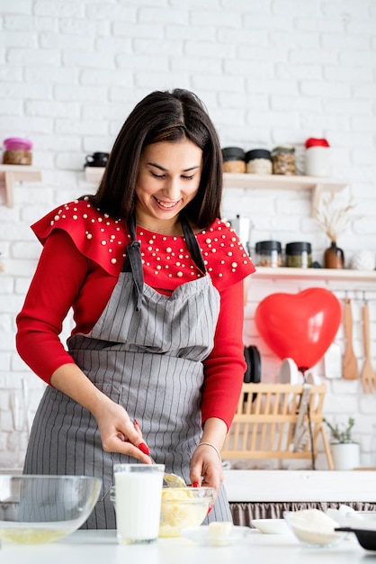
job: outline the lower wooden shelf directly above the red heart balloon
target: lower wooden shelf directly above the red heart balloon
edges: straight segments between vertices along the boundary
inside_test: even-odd
[[[255,278],[285,278],[305,280],[344,280],[376,282],[376,270],[353,270],[350,268],[268,268],[256,267]]]

